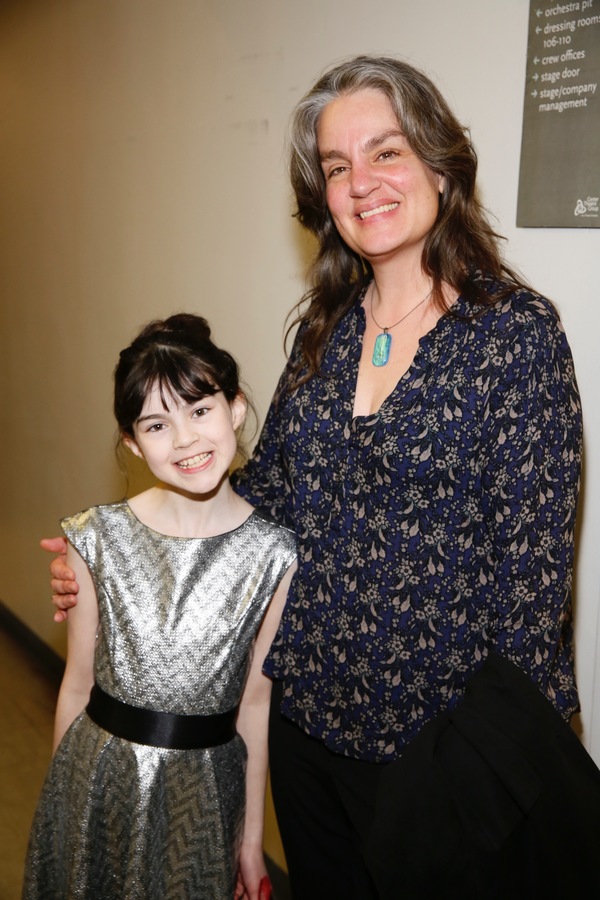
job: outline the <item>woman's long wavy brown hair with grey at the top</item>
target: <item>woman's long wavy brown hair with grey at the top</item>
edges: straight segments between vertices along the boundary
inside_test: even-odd
[[[340,237],[325,198],[325,178],[317,146],[319,117],[327,104],[365,88],[390,101],[402,133],[414,153],[444,176],[436,222],[423,249],[422,268],[432,280],[432,297],[446,311],[443,284],[474,306],[493,302],[475,273],[520,285],[503,261],[500,236],[492,229],[476,189],[477,155],[469,133],[456,119],[435,85],[418,69],[392,57],[357,56],[328,71],[299,102],[292,116],[290,177],[296,217],[317,238],[319,250],[290,329],[301,323],[300,381],[318,373],[335,325],[372,277],[371,267]],[[307,306],[308,302],[308,306]]]

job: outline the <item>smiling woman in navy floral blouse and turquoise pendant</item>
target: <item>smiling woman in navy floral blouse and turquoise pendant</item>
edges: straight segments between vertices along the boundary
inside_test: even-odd
[[[475,151],[428,78],[342,63],[298,105],[291,141],[319,252],[234,483],[298,537],[266,663],[294,897],[366,900],[384,764],[490,651],[565,720],[577,709],[580,405],[557,314],[503,263]]]

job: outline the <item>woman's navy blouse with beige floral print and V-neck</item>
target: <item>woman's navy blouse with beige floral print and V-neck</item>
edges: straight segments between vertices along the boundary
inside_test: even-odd
[[[289,366],[236,489],[298,537],[265,670],[337,753],[398,757],[494,648],[568,718],[581,457],[573,362],[543,297],[459,299],[380,410],[353,418],[360,302],[315,377]],[[463,317],[461,318],[461,314]],[[297,358],[297,342],[291,362]]]

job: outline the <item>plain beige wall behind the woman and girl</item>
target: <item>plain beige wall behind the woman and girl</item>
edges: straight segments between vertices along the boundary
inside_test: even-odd
[[[471,126],[508,255],[558,301],[573,347],[587,429],[578,672],[600,761],[600,231],[515,227],[528,9],[3,0],[0,598],[59,652],[37,541],[61,515],[124,491],[111,455],[118,350],[148,318],[200,312],[264,415],[309,251],[290,218],[289,112],[330,62],[400,54]]]

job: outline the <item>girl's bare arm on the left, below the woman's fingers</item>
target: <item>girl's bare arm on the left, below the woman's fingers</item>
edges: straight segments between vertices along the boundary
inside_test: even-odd
[[[79,602],[69,615],[67,665],[56,706],[54,751],[90,699],[94,683],[94,651],[98,630],[98,601],[92,577],[88,567],[71,544],[67,545],[66,562],[79,583]]]

